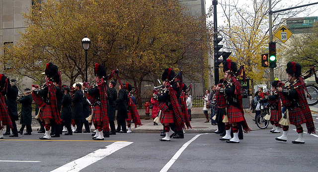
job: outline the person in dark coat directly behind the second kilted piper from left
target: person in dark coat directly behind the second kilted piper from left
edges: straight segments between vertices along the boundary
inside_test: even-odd
[[[70,95],[70,87],[64,87],[64,96],[61,101],[62,104],[62,112],[61,112],[61,131],[65,126],[68,129],[68,132],[64,135],[73,135],[72,128],[71,128],[71,119],[72,119],[72,97]]]

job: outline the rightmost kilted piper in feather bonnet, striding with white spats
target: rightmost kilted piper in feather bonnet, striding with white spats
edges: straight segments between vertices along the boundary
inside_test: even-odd
[[[288,74],[288,82],[291,84],[285,88],[278,87],[277,90],[279,91],[283,105],[288,110],[290,123],[297,128],[298,139],[292,141],[292,143],[304,144],[304,130],[301,124],[306,123],[308,134],[316,133],[316,129],[305,95],[307,88],[304,79],[301,77],[302,66],[295,62],[289,62],[287,63],[286,73]],[[275,139],[286,142],[288,129],[289,126],[283,126],[283,135]]]

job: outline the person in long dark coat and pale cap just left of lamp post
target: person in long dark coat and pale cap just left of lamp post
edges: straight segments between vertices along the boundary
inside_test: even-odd
[[[73,99],[73,110],[72,119],[74,119],[76,124],[76,131],[74,133],[81,133],[84,114],[83,114],[83,92],[81,91],[81,85],[76,84],[76,92],[74,93]]]

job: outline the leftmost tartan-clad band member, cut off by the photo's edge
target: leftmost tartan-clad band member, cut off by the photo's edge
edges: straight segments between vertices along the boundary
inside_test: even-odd
[[[9,79],[0,74],[0,139],[3,139],[3,125],[13,128],[4,97],[9,87]]]

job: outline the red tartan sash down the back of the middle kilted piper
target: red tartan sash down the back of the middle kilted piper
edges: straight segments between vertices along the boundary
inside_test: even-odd
[[[176,124],[177,130],[181,130],[182,128],[184,128],[184,122],[182,120],[181,107],[176,96],[177,92],[172,88],[172,86],[169,86],[168,90],[169,90],[170,100],[172,104],[172,109],[174,112],[174,117],[176,119],[174,123]]]

